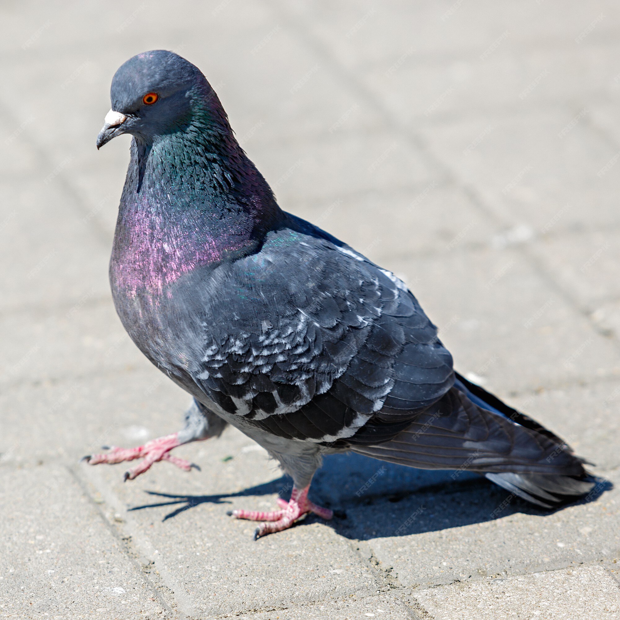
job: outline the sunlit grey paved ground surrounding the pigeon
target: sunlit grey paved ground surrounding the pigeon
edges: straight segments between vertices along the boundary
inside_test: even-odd
[[[561,4],[561,6],[560,6]],[[620,617],[615,2],[4,2],[0,618]],[[402,275],[458,368],[596,463],[544,515],[471,474],[334,456],[347,511],[250,539],[288,480],[234,430],[131,484],[102,443],[179,428],[107,260],[128,138],[110,78],[179,51],[287,210]]]

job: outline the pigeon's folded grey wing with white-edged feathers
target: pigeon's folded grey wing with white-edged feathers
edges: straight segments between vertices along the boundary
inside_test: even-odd
[[[452,386],[451,356],[401,280],[293,223],[213,273],[193,380],[274,435],[334,443],[370,422],[387,440]]]

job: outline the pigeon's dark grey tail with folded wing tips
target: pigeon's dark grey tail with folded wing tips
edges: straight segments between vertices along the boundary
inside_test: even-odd
[[[557,435],[458,374],[454,387],[392,440],[350,449],[420,469],[479,472],[545,508],[595,484]]]

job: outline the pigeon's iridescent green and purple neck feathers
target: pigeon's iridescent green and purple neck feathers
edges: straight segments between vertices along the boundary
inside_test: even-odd
[[[282,216],[231,132],[192,129],[132,141],[110,261],[115,295],[155,301],[195,268],[255,251]]]

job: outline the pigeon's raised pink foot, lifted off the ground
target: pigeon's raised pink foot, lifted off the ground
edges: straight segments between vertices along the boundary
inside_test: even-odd
[[[129,471],[125,472],[125,480],[133,480],[148,469],[151,469],[151,465],[157,461],[169,461],[173,465],[185,469],[185,471],[190,471],[192,467],[200,469],[197,465],[170,454],[172,448],[181,445],[177,438],[178,434],[174,433],[173,435],[158,437],[137,448],[117,448],[117,446],[112,446],[107,454],[93,454],[92,456],[89,454],[84,456],[82,461],[86,461],[90,465],[98,465],[99,463],[122,463],[123,461],[144,458],[142,463],[131,467]]]

